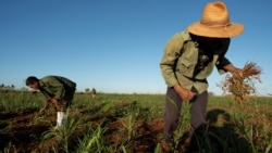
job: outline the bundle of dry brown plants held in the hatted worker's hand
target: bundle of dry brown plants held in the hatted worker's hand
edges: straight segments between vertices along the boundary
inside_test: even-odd
[[[225,80],[221,82],[223,94],[231,94],[240,105],[244,104],[244,100],[249,94],[257,92],[254,80],[261,82],[261,68],[256,63],[246,63],[242,72],[243,76],[234,73],[233,75],[227,75]]]

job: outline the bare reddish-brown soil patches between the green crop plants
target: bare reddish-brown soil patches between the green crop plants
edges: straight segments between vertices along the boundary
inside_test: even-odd
[[[127,107],[127,104],[121,103],[119,107]],[[85,106],[78,110],[71,111],[71,117],[78,116],[91,116],[92,112],[97,112],[102,105],[92,107],[91,110]],[[55,124],[55,116],[53,113],[46,114],[41,120],[37,115],[38,110],[29,110],[27,112],[17,113],[1,113],[0,111],[0,152],[4,149],[9,149],[10,152],[14,153],[25,153],[25,152],[55,152],[53,146],[59,145],[59,140],[55,137],[41,141],[42,133],[49,131],[49,129]],[[214,114],[215,113],[215,114]],[[218,113],[218,114],[217,114]],[[212,116],[218,116],[220,111],[213,112]],[[224,113],[224,112],[223,112]],[[90,115],[91,114],[91,115]],[[38,123],[35,123],[38,122]],[[217,119],[215,119],[217,120]],[[161,133],[163,130],[162,118],[146,120],[143,118],[134,118],[133,130],[129,140],[127,140],[128,130],[125,128],[128,126],[128,120],[122,115],[114,114],[112,112],[102,114],[102,116],[91,116],[86,118],[84,124],[96,126],[104,126],[107,130],[104,132],[104,138],[109,145],[111,144],[124,144],[126,151],[129,153],[152,153],[158,143],[161,141]],[[122,129],[122,130],[120,130]],[[214,132],[222,132],[221,129],[211,128]],[[230,129],[230,128],[228,128]],[[226,130],[233,135],[231,130]],[[225,131],[223,131],[225,132]],[[76,150],[78,146],[78,138],[83,138],[86,130],[83,128],[77,128],[69,142],[70,151]],[[187,133],[187,132],[186,132]],[[177,148],[178,152],[183,152],[187,149],[187,135],[184,135],[180,140]],[[236,136],[235,136],[236,137]],[[237,138],[237,143],[243,143],[248,145],[245,140]],[[42,143],[41,143],[42,142]],[[10,145],[9,145],[10,144]],[[42,145],[41,145],[42,144]],[[213,143],[215,144],[215,143]],[[116,148],[120,148],[118,145]],[[218,145],[214,146],[219,148]],[[247,148],[247,146],[246,146]],[[63,151],[59,151],[63,152]],[[122,153],[123,151],[116,149],[112,153]]]

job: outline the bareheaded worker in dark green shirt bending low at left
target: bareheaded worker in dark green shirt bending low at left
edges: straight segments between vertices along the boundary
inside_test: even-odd
[[[39,90],[47,98],[45,106],[39,113],[45,113],[45,110],[51,103],[57,110],[57,126],[58,129],[63,126],[66,109],[72,104],[76,84],[61,76],[46,76],[38,79],[35,76],[29,76],[26,79],[26,86],[32,89]]]

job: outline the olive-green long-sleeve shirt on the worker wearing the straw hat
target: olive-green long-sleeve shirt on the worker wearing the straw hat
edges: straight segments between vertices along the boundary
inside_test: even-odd
[[[195,74],[198,66],[199,42],[187,30],[175,34],[166,43],[160,62],[162,76],[169,87],[180,84],[186,89],[194,86],[199,93],[208,88],[207,77],[214,66],[220,74],[225,73],[223,66],[231,64],[224,56],[231,39],[224,38],[219,48],[213,51],[212,60],[200,72]]]

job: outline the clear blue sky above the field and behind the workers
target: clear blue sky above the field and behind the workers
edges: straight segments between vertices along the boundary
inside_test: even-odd
[[[27,76],[61,75],[77,90],[164,93],[159,63],[169,38],[199,21],[208,0],[1,0],[0,84],[25,87]],[[271,0],[224,1],[245,25],[226,56],[261,68],[260,94],[272,93]],[[214,68],[209,91],[225,75]]]

